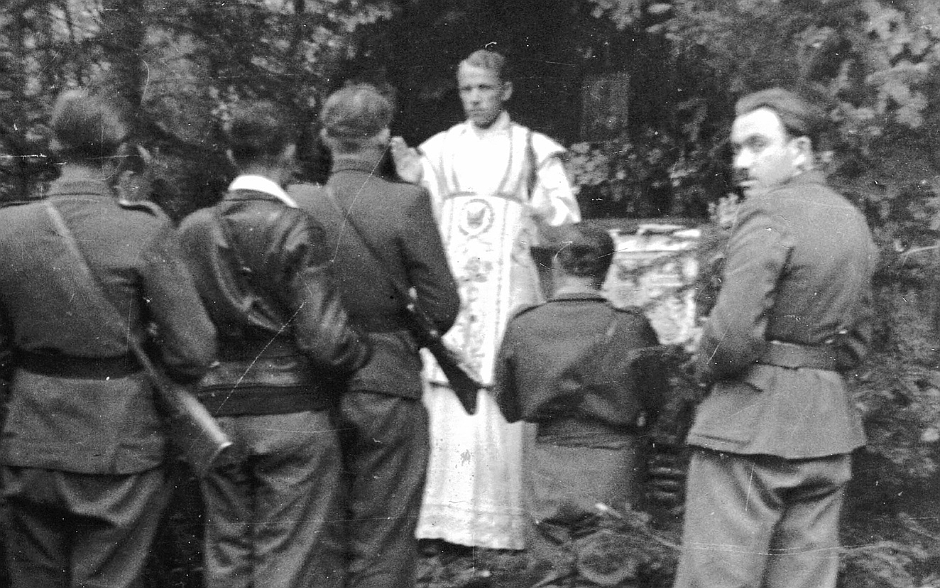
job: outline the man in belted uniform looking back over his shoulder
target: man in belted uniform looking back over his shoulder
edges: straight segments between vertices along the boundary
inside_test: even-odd
[[[688,442],[677,588],[831,588],[851,452],[864,443],[840,371],[871,335],[876,249],[815,169],[823,113],[780,88],[738,101],[746,194],[698,350],[711,386]]]

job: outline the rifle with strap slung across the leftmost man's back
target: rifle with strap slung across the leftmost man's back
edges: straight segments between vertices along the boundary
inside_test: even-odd
[[[75,236],[65,224],[62,215],[50,201],[46,200],[45,204],[53,225],[75,258],[72,267],[76,271],[72,277],[75,278],[76,290],[83,289],[86,293],[93,294],[86,298],[96,305],[96,310],[102,317],[120,316],[91,273],[85,257],[78,248]],[[84,279],[78,279],[79,277]],[[127,344],[147,373],[157,401],[164,409],[170,441],[179,449],[183,460],[192,466],[197,475],[205,475],[222,459],[223,455],[233,450],[234,445],[231,439],[192,392],[171,380],[157,368],[144,350],[141,341],[132,332],[128,332]]]

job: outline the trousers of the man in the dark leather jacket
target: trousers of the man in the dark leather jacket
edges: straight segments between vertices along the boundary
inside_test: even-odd
[[[240,457],[201,483],[206,586],[341,587],[340,454],[329,413],[218,420]]]

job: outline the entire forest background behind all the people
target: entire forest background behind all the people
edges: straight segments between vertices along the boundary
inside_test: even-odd
[[[154,155],[152,197],[178,220],[231,178],[223,129],[239,100],[289,109],[304,130],[298,179],[319,181],[329,162],[316,113],[330,91],[384,88],[393,132],[416,144],[462,119],[455,65],[483,46],[514,63],[514,118],[569,147],[592,218],[720,227],[737,198],[736,97],[784,85],[824,101],[821,164],[881,249],[874,353],[851,375],[869,445],[856,455],[841,583],[940,587],[935,0],[4,0],[0,199],[35,197],[54,176],[45,123],[67,87],[132,107],[135,139]],[[185,504],[165,541],[197,540]],[[156,561],[153,585],[196,585],[197,551]],[[618,581],[607,585],[632,585]]]

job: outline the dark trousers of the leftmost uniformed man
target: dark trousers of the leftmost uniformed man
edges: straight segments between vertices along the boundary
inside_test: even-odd
[[[77,474],[4,467],[13,588],[140,586],[166,502],[162,468]]]

